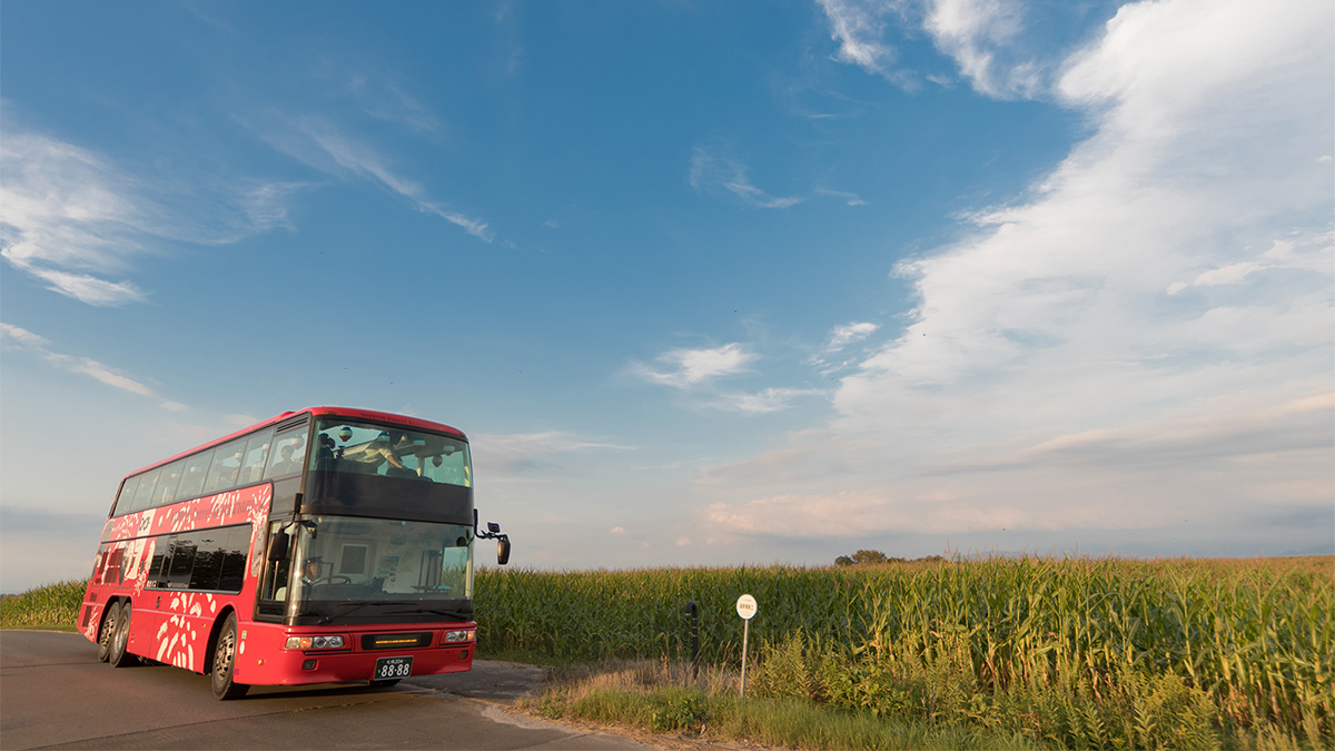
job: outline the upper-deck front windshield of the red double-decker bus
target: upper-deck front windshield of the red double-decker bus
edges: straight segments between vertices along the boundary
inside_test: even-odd
[[[396,426],[320,420],[310,468],[316,472],[378,474],[473,486],[469,444]]]

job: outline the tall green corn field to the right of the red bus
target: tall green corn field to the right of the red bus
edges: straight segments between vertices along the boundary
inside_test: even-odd
[[[1268,727],[1315,747],[1330,747],[1335,739],[1335,559],[1328,556],[486,569],[475,593],[483,656],[518,651],[559,661],[689,659],[684,605],[693,600],[701,612],[701,659],[736,664],[742,621],[734,603],[750,593],[760,601],[752,657],[776,664],[776,657],[794,651],[816,657],[806,668],[801,657],[785,668],[789,676],[808,669],[802,691],[813,699],[893,708],[896,700],[880,686],[892,684],[894,676],[944,675],[949,668],[965,680],[952,679],[961,708],[951,710],[951,716],[984,724],[999,707],[1035,690],[1087,700],[1081,711],[1091,724],[1101,724],[1089,707],[1111,712],[1112,698],[1139,691],[1160,696],[1165,706],[1193,706],[1199,698],[1210,724],[1224,738]],[[840,676],[829,673],[832,664],[842,665]],[[904,702],[928,707],[920,694]],[[1025,711],[1033,702],[1040,699]],[[1127,702],[1116,704],[1117,711],[1141,712],[1140,699]],[[924,711],[932,715],[929,710]],[[1152,724],[1152,718],[1143,722]],[[1127,743],[1155,744],[1144,739],[1157,736],[1133,730],[1127,731]],[[1072,735],[1068,728],[1048,735],[1083,744],[1081,739],[1103,738],[1104,730],[1091,732]],[[1192,738],[1176,743],[1212,744]]]

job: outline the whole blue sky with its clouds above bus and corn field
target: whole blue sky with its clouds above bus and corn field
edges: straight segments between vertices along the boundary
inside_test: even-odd
[[[0,588],[287,409],[514,564],[1335,552],[1330,3],[7,3]]]

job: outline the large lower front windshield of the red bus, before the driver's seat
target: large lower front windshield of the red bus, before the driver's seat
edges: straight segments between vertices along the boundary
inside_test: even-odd
[[[413,604],[473,596],[470,527],[312,516],[299,529],[290,584],[290,608],[296,613],[327,613],[339,603]]]

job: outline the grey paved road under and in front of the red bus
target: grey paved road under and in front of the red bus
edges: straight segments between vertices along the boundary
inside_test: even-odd
[[[218,702],[208,678],[112,668],[77,633],[0,632],[0,748],[651,748],[505,706],[541,672],[477,661],[473,673],[394,688],[255,687]]]

